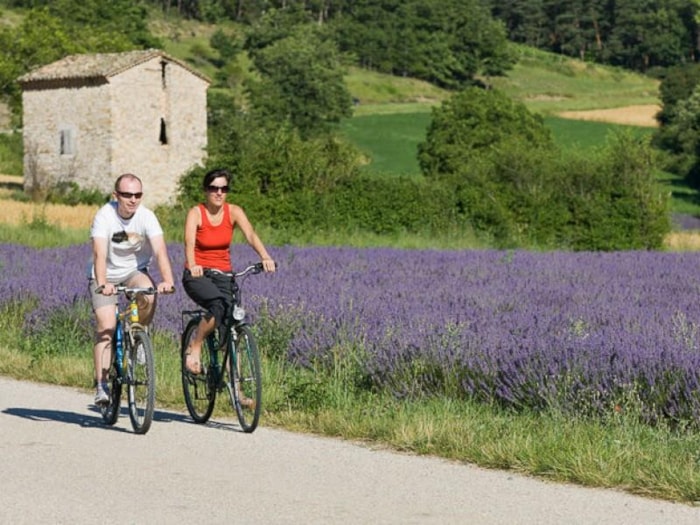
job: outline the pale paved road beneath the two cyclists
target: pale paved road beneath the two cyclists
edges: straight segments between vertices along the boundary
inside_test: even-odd
[[[91,401],[0,377],[0,523],[700,523],[700,508],[175,411],[137,436]]]

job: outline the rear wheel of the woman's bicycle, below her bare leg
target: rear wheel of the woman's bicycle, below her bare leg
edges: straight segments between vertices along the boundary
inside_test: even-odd
[[[190,346],[190,341],[194,339],[199,328],[199,319],[192,319],[185,328],[182,334],[182,349],[180,352],[181,367],[182,367],[182,392],[185,395],[185,404],[187,411],[192,416],[195,423],[206,423],[214,411],[214,402],[216,401],[216,388],[213,384],[213,377],[216,373],[210,363],[210,354],[207,349],[209,342],[202,345],[202,355],[200,361],[202,363],[201,374],[192,374],[185,366],[185,353]]]

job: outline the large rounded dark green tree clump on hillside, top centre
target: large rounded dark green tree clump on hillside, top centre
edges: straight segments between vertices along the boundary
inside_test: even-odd
[[[341,51],[384,73],[446,88],[513,65],[503,25],[479,0],[358,0],[333,27]]]

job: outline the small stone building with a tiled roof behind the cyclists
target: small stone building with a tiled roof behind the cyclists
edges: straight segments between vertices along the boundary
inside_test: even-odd
[[[163,51],[70,55],[19,83],[29,192],[75,182],[109,193],[129,172],[154,206],[205,158],[209,80]]]

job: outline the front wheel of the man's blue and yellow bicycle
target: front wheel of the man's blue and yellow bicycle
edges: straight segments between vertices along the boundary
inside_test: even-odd
[[[156,405],[156,368],[153,361],[153,344],[143,330],[131,333],[133,344],[127,343],[127,388],[129,392],[129,417],[137,434],[145,434],[151,428]]]

